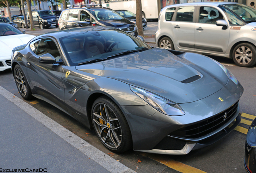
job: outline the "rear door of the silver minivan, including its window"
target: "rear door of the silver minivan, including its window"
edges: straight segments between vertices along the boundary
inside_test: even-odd
[[[175,21],[171,22],[171,30],[174,42],[181,50],[194,50],[195,44],[195,22],[194,6],[181,6],[176,9]]]

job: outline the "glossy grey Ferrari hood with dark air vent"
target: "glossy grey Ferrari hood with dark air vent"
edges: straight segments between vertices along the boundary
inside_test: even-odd
[[[215,71],[190,62],[184,55],[178,57],[159,48],[76,66],[76,69],[126,82],[175,103],[189,103],[219,91],[229,79],[217,63],[203,58]]]

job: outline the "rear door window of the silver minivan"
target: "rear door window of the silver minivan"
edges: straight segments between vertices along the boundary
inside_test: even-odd
[[[178,9],[176,21],[193,22],[194,6],[183,6]]]

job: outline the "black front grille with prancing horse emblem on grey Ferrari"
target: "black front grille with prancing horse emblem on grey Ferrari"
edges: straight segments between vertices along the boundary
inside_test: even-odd
[[[202,122],[178,129],[169,135],[183,138],[199,138],[221,128],[225,125],[236,113],[238,107],[238,101],[229,109],[214,115],[213,117],[206,119]],[[226,116],[226,118],[224,118]],[[225,119],[225,120],[224,120]]]

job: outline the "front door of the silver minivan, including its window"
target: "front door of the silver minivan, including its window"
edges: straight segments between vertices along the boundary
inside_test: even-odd
[[[217,26],[224,19],[221,10],[211,6],[200,6],[195,27],[195,50],[225,54],[229,42],[229,27]],[[228,23],[228,21],[227,21]]]

